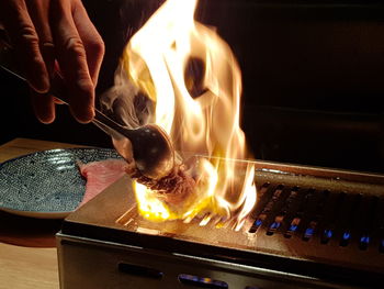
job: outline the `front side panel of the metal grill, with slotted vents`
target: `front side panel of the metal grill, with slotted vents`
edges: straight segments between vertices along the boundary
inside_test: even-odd
[[[58,234],[60,285],[78,288],[359,288],[230,262]],[[183,278],[184,277],[184,278]]]

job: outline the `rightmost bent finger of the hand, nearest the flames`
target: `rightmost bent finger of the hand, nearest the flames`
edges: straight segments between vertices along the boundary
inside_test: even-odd
[[[75,25],[87,53],[87,63],[93,86],[98,84],[99,71],[104,56],[104,42],[88,16],[81,1],[75,1],[72,10]]]

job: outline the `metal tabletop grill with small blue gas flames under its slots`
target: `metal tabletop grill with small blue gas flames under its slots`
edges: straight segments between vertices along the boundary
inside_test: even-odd
[[[65,220],[61,287],[381,287],[383,176],[255,164],[258,201],[239,231],[204,216],[149,222],[120,179]]]

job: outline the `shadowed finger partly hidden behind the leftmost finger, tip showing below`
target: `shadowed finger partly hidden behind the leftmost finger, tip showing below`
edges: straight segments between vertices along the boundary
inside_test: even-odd
[[[48,22],[49,1],[29,0],[26,5],[38,35],[39,49],[50,79],[54,74],[55,47]],[[52,95],[31,92],[32,107],[41,122],[52,123],[55,120],[54,100]]]

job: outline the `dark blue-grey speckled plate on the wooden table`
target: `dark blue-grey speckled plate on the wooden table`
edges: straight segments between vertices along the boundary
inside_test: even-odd
[[[77,162],[120,158],[109,148],[37,152],[0,164],[0,210],[42,219],[63,219],[86,192]]]

